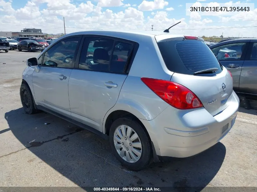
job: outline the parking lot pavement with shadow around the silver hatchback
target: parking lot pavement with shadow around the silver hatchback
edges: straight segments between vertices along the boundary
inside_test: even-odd
[[[227,136],[198,156],[133,172],[108,141],[50,114],[25,114],[21,74],[39,53],[0,52],[0,186],[257,187],[256,110],[240,108]]]

